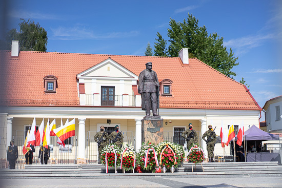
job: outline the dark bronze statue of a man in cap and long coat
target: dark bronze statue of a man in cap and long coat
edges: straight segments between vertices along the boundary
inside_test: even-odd
[[[146,116],[151,115],[151,109],[153,116],[159,116],[157,113],[159,82],[156,72],[152,70],[152,62],[147,62],[146,69],[140,72],[138,80],[138,93],[141,94],[142,110],[145,110]]]

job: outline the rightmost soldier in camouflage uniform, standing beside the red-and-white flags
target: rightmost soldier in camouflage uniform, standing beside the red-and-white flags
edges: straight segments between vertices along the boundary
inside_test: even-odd
[[[211,137],[210,137],[210,135],[211,135]],[[212,130],[211,124],[209,125],[209,130],[206,131],[202,136],[202,139],[207,142],[205,137],[207,137],[207,139],[210,137],[210,140],[207,143],[208,158],[209,158],[209,162],[214,162],[213,161],[213,151],[214,151],[214,144],[216,142],[216,134]]]

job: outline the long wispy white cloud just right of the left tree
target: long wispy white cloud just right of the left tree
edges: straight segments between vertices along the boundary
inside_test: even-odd
[[[131,36],[137,36],[138,31],[129,32],[111,32],[105,34],[95,34],[92,30],[84,27],[74,26],[72,28],[58,27],[51,28],[53,36],[51,39],[61,40],[78,40],[78,39],[107,39],[107,38],[125,38]]]

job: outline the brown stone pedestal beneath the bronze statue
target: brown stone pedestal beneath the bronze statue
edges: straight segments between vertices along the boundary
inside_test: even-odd
[[[158,144],[164,141],[164,119],[160,119],[160,116],[144,117],[142,119],[142,142],[148,141],[154,144]]]

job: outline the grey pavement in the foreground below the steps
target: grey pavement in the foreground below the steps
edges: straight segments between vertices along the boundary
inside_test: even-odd
[[[97,178],[97,179],[2,179],[1,187],[281,187],[281,177],[248,178]]]

